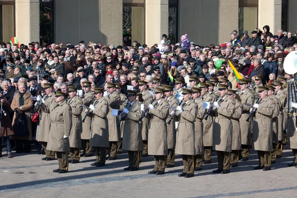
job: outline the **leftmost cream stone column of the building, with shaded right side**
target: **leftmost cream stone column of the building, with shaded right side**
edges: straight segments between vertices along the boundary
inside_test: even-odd
[[[39,38],[39,0],[15,0],[15,36],[28,45]]]

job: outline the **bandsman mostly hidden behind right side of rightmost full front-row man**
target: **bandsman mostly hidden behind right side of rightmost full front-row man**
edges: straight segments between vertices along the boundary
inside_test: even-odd
[[[281,101],[276,98],[274,95],[274,87],[272,85],[265,85],[265,87],[268,88],[268,97],[270,99],[273,99],[275,102],[275,108],[273,111],[273,116],[272,116],[272,132],[273,132],[273,143],[272,147],[273,150],[271,152],[271,163],[275,163],[276,160],[276,148],[278,146],[278,116],[280,114],[280,109],[281,109]]]

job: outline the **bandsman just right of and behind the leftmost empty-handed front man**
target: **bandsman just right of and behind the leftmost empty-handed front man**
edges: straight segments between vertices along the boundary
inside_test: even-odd
[[[72,112],[72,128],[69,136],[70,144],[70,160],[72,164],[78,163],[80,160],[80,148],[82,147],[81,133],[82,133],[82,99],[76,96],[77,89],[75,87],[68,87],[69,99],[67,104],[71,107]]]

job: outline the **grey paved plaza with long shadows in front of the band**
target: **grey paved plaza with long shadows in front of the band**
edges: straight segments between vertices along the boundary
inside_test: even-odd
[[[2,151],[4,154],[5,151]],[[215,155],[215,152],[212,153]],[[118,160],[106,161],[104,167],[91,167],[93,157],[82,157],[78,164],[69,164],[69,173],[58,174],[58,161],[42,161],[45,155],[4,154],[0,158],[0,198],[282,198],[297,195],[297,168],[288,167],[293,153],[285,147],[283,157],[272,164],[272,170],[253,170],[257,154],[252,150],[250,160],[239,162],[231,173],[213,174],[213,163],[203,165],[194,178],[180,178],[183,162],[176,155],[174,168],[166,168],[164,175],[149,175],[153,157],[143,158],[139,171],[124,171],[128,154],[118,155]]]

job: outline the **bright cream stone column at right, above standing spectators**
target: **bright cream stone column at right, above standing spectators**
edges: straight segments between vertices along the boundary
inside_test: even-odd
[[[264,32],[263,26],[269,25],[270,32],[276,35],[282,27],[282,0],[259,0],[258,3],[258,28]]]

